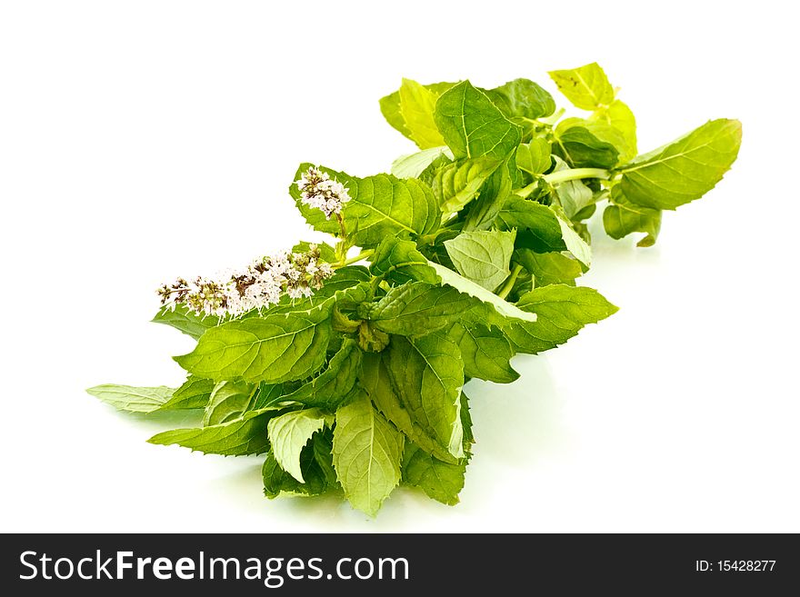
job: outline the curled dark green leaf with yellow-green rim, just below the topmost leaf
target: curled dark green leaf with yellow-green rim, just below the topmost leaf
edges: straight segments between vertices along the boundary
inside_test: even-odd
[[[617,144],[624,143],[622,134],[601,122],[568,118],[555,127],[554,150],[575,168],[613,168],[619,162]]]

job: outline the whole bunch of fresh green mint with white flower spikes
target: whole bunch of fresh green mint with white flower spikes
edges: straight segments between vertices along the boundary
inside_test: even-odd
[[[420,151],[356,178],[301,164],[290,194],[330,244],[300,243],[159,290],[155,322],[197,340],[179,388],[101,385],[123,411],[192,410],[151,443],[265,454],[265,494],[344,495],[370,515],[398,484],[455,504],[474,443],[464,388],[510,383],[516,353],[565,343],[616,307],[575,285],[585,221],[655,243],[663,210],[733,164],[713,120],[638,154],[635,118],[596,64],[550,73],[583,117],[527,79],[495,89],[404,80],[380,101]]]

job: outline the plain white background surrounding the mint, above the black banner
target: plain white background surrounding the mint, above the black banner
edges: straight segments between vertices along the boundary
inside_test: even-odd
[[[800,531],[798,47],[788,3],[745,5],[0,5],[0,530]],[[377,104],[401,76],[555,91],[547,70],[595,60],[641,150],[736,117],[741,154],[655,248],[595,234],[582,284],[619,313],[470,383],[457,507],[266,501],[259,458],[147,444],[168,423],[84,393],[181,383],[157,284],[309,238],[301,161],[412,152]]]

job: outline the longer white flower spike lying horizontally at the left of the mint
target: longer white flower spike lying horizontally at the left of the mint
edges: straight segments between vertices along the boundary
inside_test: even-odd
[[[235,317],[267,307],[286,294],[297,299],[311,296],[334,274],[329,264],[319,262],[319,249],[312,244],[305,253],[282,251],[256,259],[245,270],[197,277],[191,282],[178,278],[158,289],[161,304],[175,309],[184,304],[201,315]]]

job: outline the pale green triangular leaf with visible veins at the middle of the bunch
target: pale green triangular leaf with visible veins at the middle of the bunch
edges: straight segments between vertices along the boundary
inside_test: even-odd
[[[515,237],[515,231],[463,232],[445,241],[445,248],[459,274],[486,290],[495,290],[511,274],[508,264]]]

